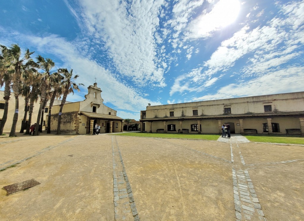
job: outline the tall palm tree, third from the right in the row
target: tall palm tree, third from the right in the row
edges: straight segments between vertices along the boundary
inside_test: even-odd
[[[52,73],[54,71],[52,71],[52,68],[55,66],[55,63],[50,59],[50,58],[46,58],[44,59],[44,57],[42,57],[41,55],[38,55],[36,57],[37,60],[37,64],[39,64],[39,68],[42,70],[40,72],[40,80],[41,80],[41,85],[40,85],[40,106],[39,106],[39,111],[38,111],[38,116],[37,116],[37,122],[36,122],[36,128],[35,128],[35,133],[33,135],[38,135],[38,131],[39,131],[39,121],[41,118],[41,112],[43,109],[43,103],[45,101],[45,99],[47,98],[47,94],[48,91],[51,88],[51,78]],[[41,125],[42,126],[42,125]]]

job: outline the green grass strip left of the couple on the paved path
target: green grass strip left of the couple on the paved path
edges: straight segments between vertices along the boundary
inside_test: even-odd
[[[190,140],[217,140],[219,134],[184,134],[184,133],[112,133],[114,136],[138,136],[138,137],[160,137],[160,138],[178,138]]]

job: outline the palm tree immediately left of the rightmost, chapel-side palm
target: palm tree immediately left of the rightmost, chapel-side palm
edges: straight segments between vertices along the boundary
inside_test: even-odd
[[[50,104],[49,104],[49,116],[47,118],[47,133],[51,133],[51,112],[52,112],[52,107],[54,104],[55,98],[60,98],[62,95],[62,87],[61,87],[61,80],[63,80],[63,76],[54,73],[54,81],[52,85],[52,92],[51,92],[51,98],[50,98]]]

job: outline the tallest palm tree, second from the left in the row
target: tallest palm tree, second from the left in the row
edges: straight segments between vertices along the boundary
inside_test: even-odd
[[[34,52],[30,52],[26,49],[24,57],[21,58],[21,49],[18,44],[12,44],[8,50],[8,63],[5,67],[8,68],[9,73],[12,76],[12,90],[15,95],[15,113],[13,116],[12,128],[9,136],[16,136],[16,124],[18,121],[19,112],[19,95],[21,94],[22,81],[26,74],[26,69],[35,65],[35,62],[31,59],[31,55]]]

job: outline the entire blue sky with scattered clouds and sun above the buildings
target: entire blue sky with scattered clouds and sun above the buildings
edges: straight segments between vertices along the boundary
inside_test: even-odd
[[[1,1],[0,44],[72,68],[81,101],[138,120],[151,105],[303,90],[304,1]]]

